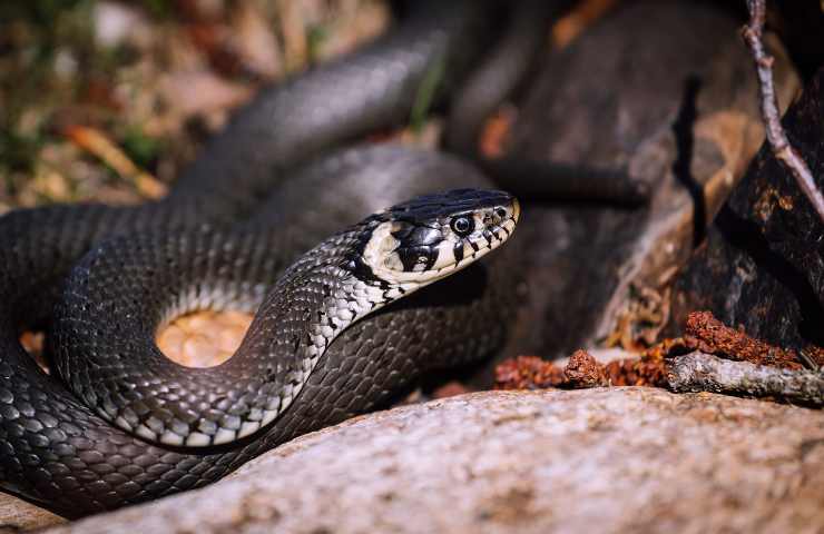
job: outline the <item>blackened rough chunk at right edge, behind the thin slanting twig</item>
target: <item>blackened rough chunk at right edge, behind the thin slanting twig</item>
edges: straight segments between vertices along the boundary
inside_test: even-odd
[[[824,69],[783,119],[824,187]],[[762,147],[673,294],[677,332],[693,310],[788,348],[824,346],[824,225],[792,176]]]

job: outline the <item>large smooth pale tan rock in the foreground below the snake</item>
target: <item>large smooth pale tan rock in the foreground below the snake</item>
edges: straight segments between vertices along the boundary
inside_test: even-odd
[[[488,392],[306,435],[52,533],[821,532],[824,413],[654,388]]]

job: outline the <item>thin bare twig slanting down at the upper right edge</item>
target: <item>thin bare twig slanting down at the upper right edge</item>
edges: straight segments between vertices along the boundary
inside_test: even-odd
[[[753,52],[755,68],[758,73],[762,97],[762,115],[767,130],[767,141],[773,147],[775,157],[784,164],[787,170],[793,175],[795,181],[804,195],[806,195],[813,208],[818,212],[818,217],[824,221],[824,196],[815,186],[813,174],[801,155],[789,145],[787,135],[781,126],[778,116],[778,100],[775,96],[773,85],[773,61],[774,58],[766,53],[762,36],[764,33],[764,21],[766,19],[765,0],[747,0],[749,8],[749,23],[742,30],[744,41]]]

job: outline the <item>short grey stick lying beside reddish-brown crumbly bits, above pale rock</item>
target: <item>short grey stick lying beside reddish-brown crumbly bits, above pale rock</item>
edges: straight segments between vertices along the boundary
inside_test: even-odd
[[[822,372],[732,362],[698,350],[677,356],[667,372],[667,382],[674,392],[773,397],[807,406],[824,406]]]

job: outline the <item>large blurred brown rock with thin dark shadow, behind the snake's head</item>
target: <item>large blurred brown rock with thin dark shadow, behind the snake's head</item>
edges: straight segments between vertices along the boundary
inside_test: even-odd
[[[648,344],[666,324],[674,273],[763,139],[739,26],[707,2],[626,2],[548,57],[509,156],[626,171],[655,196],[640,210],[524,207],[518,239],[537,289],[507,355],[568,355],[608,336]],[[776,56],[788,102],[797,77]]]

